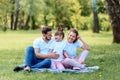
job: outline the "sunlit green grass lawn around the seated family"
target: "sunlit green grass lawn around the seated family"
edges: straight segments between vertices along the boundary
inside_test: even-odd
[[[26,47],[41,34],[39,30],[0,32],[0,80],[119,80],[120,44],[112,44],[112,32],[80,31],[80,34],[90,45],[86,64],[100,66],[98,71],[79,74],[13,72],[16,65],[25,62]]]

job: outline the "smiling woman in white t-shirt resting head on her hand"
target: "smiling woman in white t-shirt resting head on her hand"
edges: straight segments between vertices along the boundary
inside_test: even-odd
[[[78,41],[78,39],[80,41]],[[82,48],[83,52],[76,56],[77,48]],[[89,46],[80,38],[78,31],[76,29],[70,30],[66,47],[64,49],[65,59],[62,61],[66,68],[81,69],[85,66],[83,65],[87,55]]]

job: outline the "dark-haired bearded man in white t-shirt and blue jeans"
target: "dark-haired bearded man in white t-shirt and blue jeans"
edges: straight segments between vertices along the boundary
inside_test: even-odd
[[[23,68],[24,70],[30,71],[30,68],[49,68],[51,66],[50,58],[56,59],[59,57],[56,53],[49,53],[49,46],[54,41],[51,37],[51,28],[42,28],[42,37],[35,39],[33,47],[29,46],[26,50],[26,66]],[[17,71],[17,69],[14,69],[14,71]]]

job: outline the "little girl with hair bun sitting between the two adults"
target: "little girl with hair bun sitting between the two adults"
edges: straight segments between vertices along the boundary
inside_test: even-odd
[[[59,70],[63,70],[64,66],[61,63],[61,61],[63,60],[64,56],[63,56],[63,49],[65,48],[65,41],[63,40],[64,38],[64,32],[63,29],[58,28],[58,30],[55,32],[55,41],[53,42],[53,44],[50,46],[50,53],[56,53],[59,54],[59,58],[57,59],[52,59],[52,65],[51,68],[52,69],[59,69]]]

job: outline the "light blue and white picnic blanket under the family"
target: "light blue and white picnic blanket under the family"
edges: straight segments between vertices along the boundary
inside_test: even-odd
[[[25,64],[19,65],[19,67],[23,67]],[[58,69],[51,69],[51,68],[31,68],[32,72],[54,72],[54,73],[64,73],[64,72],[71,72],[71,73],[85,73],[85,72],[94,72],[99,70],[99,66],[91,66],[85,67],[80,70],[72,70],[72,69],[65,69],[65,70],[58,70]],[[24,71],[24,70],[22,70]]]

